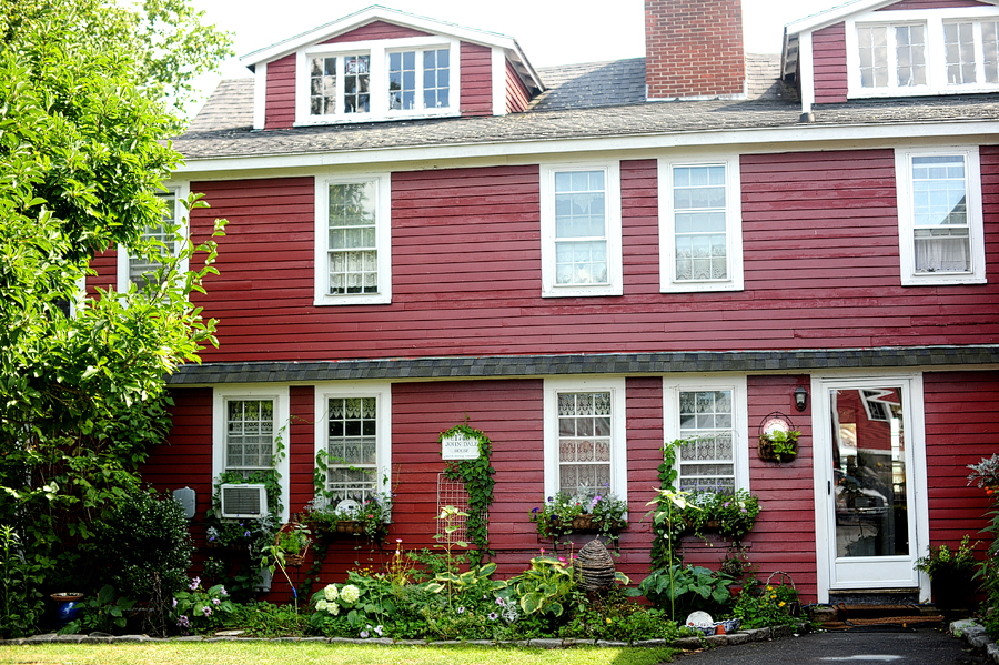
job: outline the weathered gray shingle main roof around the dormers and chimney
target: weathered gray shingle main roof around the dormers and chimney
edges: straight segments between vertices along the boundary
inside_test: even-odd
[[[760,97],[747,100],[646,103],[637,93],[640,80],[644,94],[644,61],[630,59],[541,70],[551,89],[524,113],[268,131],[251,129],[253,79],[233,79],[219,85],[174,147],[196,160],[801,128],[800,108],[770,78],[777,68],[774,57],[748,57],[749,90]],[[999,94],[949,95],[818,105],[810,127],[997,118]]]

